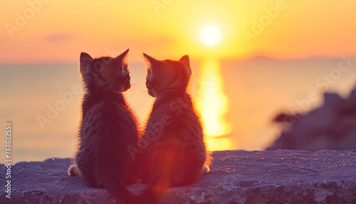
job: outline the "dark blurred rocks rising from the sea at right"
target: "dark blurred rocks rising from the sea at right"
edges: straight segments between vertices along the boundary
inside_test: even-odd
[[[307,103],[304,100],[300,106]],[[323,106],[309,113],[282,113],[274,121],[283,131],[267,150],[355,149],[356,88],[345,99],[337,93],[325,93]]]

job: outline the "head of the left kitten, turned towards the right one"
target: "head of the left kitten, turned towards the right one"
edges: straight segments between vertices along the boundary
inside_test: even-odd
[[[125,63],[128,51],[116,58],[92,58],[88,53],[80,53],[79,71],[85,88],[92,93],[127,91],[131,87],[130,71]]]

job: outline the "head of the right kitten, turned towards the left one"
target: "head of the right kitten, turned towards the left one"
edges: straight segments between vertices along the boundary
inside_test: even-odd
[[[179,61],[159,61],[143,53],[149,63],[147,68],[146,86],[153,96],[172,95],[187,91],[192,69],[189,56],[185,55]]]

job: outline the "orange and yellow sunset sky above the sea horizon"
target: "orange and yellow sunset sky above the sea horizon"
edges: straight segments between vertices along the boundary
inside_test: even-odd
[[[16,0],[0,7],[0,63],[76,63],[81,51],[115,56],[127,48],[129,61],[143,61],[142,51],[229,60],[356,54],[354,0]],[[255,20],[261,32],[253,32]],[[214,46],[200,40],[208,25],[221,31]]]

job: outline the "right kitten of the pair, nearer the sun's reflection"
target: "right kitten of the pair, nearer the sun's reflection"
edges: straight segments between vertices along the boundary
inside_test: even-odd
[[[187,86],[192,75],[189,57],[159,61],[147,56],[148,93],[155,103],[142,136],[142,181],[150,183],[140,200],[157,203],[169,187],[195,183],[209,171],[201,120]]]

